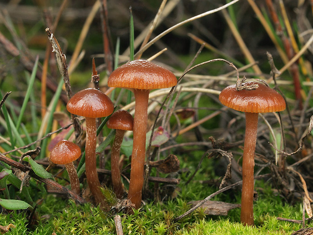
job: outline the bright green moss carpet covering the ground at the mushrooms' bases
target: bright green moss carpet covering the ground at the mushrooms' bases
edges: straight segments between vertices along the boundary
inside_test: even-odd
[[[196,174],[195,180],[187,186],[184,186],[183,180],[178,196],[170,201],[150,202],[133,215],[120,212],[124,234],[290,234],[301,228],[300,224],[277,220],[277,217],[301,219],[300,203],[292,206],[284,203],[273,193],[271,186],[262,181],[256,181],[256,188],[262,190],[259,190],[258,200],[254,203],[253,227],[240,223],[240,208],[230,210],[227,216],[205,215],[203,210],[198,209],[174,221],[190,209],[188,201],[201,200],[217,191],[216,187],[197,182],[201,178],[200,173]],[[213,200],[240,203],[240,192],[235,191],[235,194],[235,197],[230,197],[226,191]],[[10,234],[115,234],[113,213],[102,212],[88,203],[76,205],[71,200],[49,194],[36,210],[38,224],[26,231],[28,215],[29,212],[17,211],[0,214],[1,225],[13,223],[16,228],[11,228]]]

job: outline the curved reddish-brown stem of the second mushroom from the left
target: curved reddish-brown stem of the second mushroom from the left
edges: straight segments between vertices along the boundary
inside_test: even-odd
[[[85,164],[86,177],[90,191],[94,196],[96,205],[100,204],[103,209],[109,209],[109,205],[103,196],[100,187],[100,181],[97,173],[97,165],[95,158],[96,148],[96,119],[85,117],[86,120],[86,147],[85,147]]]

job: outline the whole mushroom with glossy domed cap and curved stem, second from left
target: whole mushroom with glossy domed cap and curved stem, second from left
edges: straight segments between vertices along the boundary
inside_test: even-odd
[[[106,117],[113,113],[114,105],[105,93],[94,88],[78,91],[67,103],[67,110],[86,121],[85,167],[87,183],[94,196],[96,205],[108,210],[109,205],[103,196],[96,169],[96,118]]]

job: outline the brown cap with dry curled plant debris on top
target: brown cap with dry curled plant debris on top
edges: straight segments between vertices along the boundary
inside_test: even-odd
[[[236,85],[225,87],[220,93],[223,105],[246,113],[279,112],[286,109],[283,97],[264,83],[245,82],[243,85],[258,84],[254,90],[236,90]]]

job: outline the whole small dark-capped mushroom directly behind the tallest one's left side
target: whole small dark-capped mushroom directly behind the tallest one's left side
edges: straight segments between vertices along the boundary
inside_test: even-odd
[[[111,177],[116,197],[121,199],[124,194],[124,187],[119,167],[120,150],[126,130],[133,130],[134,118],[129,112],[121,109],[112,114],[107,122],[107,126],[110,129],[116,129],[111,153]]]

